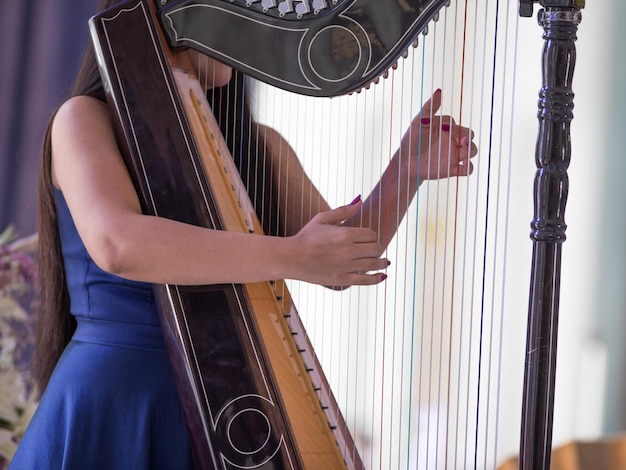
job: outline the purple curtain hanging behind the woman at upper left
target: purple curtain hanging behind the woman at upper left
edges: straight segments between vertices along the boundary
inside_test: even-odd
[[[69,92],[96,0],[1,0],[0,231],[36,230],[43,132]]]

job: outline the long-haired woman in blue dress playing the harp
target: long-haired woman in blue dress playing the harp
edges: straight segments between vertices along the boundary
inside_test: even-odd
[[[105,1],[102,8],[117,1]],[[228,67],[195,52],[190,58],[207,88],[231,80]],[[279,212],[322,202],[317,213],[281,217],[283,226],[266,226],[280,237],[220,232],[142,215],[90,48],[71,97],[55,113],[44,140],[39,183],[42,295],[34,363],[42,399],[12,468],[193,468],[151,284],[290,278],[350,286],[383,281],[389,262],[379,240],[391,238],[419,183],[472,171],[469,158],[477,151],[472,133],[449,117],[435,116],[440,102],[438,91],[371,196],[334,210],[276,132],[263,129],[243,136],[264,137],[243,147],[266,149],[273,174],[283,175],[272,189],[305,201],[296,205],[279,199]],[[223,118],[225,107],[219,100],[215,106]],[[437,152],[440,165],[418,158],[430,146],[439,148],[440,138],[446,143]],[[422,149],[420,142],[425,143]],[[282,158],[272,158],[279,149]],[[436,167],[449,172],[437,174]],[[300,183],[297,190],[281,191],[289,181]],[[388,205],[398,207],[399,214],[391,217],[378,210]],[[363,227],[377,227],[380,235]]]

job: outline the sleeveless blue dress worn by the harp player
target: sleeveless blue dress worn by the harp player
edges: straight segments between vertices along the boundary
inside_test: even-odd
[[[194,468],[151,285],[98,268],[55,198],[78,327],[11,470]]]

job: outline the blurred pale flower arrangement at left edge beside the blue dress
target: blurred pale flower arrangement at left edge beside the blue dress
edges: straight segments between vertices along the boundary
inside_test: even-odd
[[[36,407],[28,374],[35,337],[36,235],[0,233],[0,468],[17,448]]]

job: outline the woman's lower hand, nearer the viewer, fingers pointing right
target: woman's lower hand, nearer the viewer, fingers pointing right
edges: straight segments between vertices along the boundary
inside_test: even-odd
[[[361,206],[359,197],[351,204],[320,212],[291,237],[297,265],[289,277],[334,287],[384,281],[387,276],[379,271],[387,268],[389,261],[382,258],[385,247],[376,232],[342,225]]]

